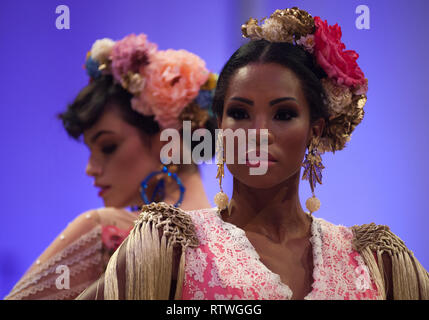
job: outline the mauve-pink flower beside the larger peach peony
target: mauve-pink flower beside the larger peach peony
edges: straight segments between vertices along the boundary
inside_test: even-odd
[[[156,50],[156,44],[149,42],[145,34],[130,34],[117,41],[110,54],[113,77],[123,84],[129,72],[142,73]]]

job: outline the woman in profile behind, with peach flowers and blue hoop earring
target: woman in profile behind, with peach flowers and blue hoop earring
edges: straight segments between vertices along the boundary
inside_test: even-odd
[[[185,50],[157,50],[146,35],[132,34],[117,42],[97,40],[85,66],[90,83],[60,118],[67,133],[83,137],[89,148],[86,173],[106,208],[71,222],[6,299],[74,299],[100,277],[132,229],[138,214],[127,207],[153,201],[184,209],[210,206],[198,166],[168,164],[168,152],[162,154],[167,142],[161,141],[164,129],[177,129],[180,140],[183,121],[191,132],[214,131],[216,76],[205,62]],[[192,143],[182,142],[169,145],[192,153]]]

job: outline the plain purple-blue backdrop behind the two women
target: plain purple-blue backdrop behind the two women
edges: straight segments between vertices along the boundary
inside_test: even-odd
[[[70,30],[55,27],[61,4],[70,8]],[[360,4],[371,10],[370,30],[355,27]],[[250,15],[293,5],[338,22],[369,78],[363,123],[345,150],[323,157],[315,215],[347,226],[389,225],[429,268],[428,1],[2,1],[0,296],[68,222],[102,206],[84,174],[87,149],[56,119],[87,84],[82,65],[96,39],[144,32],[160,49],[187,49],[219,72],[242,43],[240,26]],[[213,198],[216,167],[201,170]],[[224,188],[231,192],[229,175]],[[304,204],[306,182],[300,194]]]

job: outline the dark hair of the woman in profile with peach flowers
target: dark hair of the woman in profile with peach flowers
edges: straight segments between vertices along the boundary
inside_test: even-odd
[[[67,110],[59,114],[59,118],[67,133],[74,139],[79,139],[84,131],[101,118],[108,104],[114,102],[123,120],[139,129],[143,138],[158,133],[160,127],[154,120],[154,116],[142,115],[131,108],[132,97],[131,93],[114,82],[111,75],[103,75],[84,87],[75,100],[67,106]],[[211,158],[215,150],[216,119],[209,117],[205,122],[205,128],[211,133],[212,150],[210,155],[206,155],[206,158]],[[199,141],[191,142],[191,152],[198,144]]]

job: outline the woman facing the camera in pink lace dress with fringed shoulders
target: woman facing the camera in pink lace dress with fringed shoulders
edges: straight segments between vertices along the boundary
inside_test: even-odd
[[[240,164],[225,159],[230,140],[220,136],[218,178],[226,160],[231,201],[221,191],[213,209],[143,207],[79,299],[429,299],[427,271],[387,226],[344,227],[312,214],[321,154],[344,148],[366,102],[367,80],[338,25],[292,8],[242,30],[252,41],[224,66],[214,111],[220,128],[263,139]],[[266,173],[252,175],[255,163]],[[313,192],[307,211],[301,167]]]

